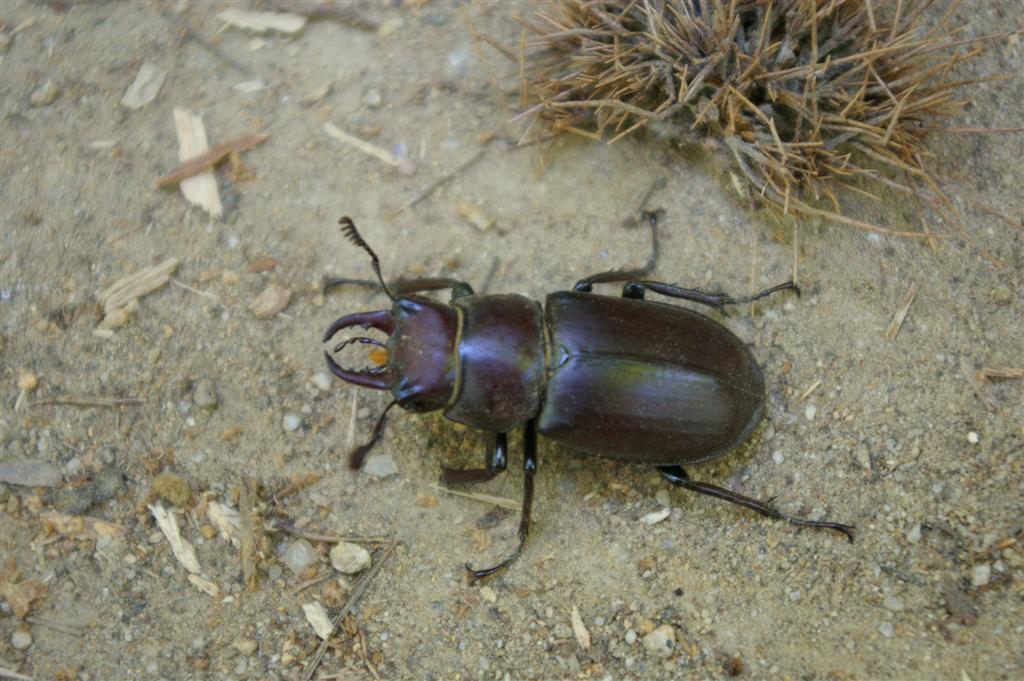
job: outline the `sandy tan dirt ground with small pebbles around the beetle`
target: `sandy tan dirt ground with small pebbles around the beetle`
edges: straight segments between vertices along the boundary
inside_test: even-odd
[[[0,483],[0,666],[35,679],[304,678],[319,639],[302,606],[336,615],[367,579],[339,584],[319,541],[318,563],[293,574],[283,555],[305,533],[399,540],[330,640],[319,678],[1021,678],[1024,382],[993,381],[988,407],[965,368],[1024,366],[1024,135],[932,145],[964,197],[1016,226],[958,200],[970,241],[936,224],[951,237],[935,252],[828,224],[801,225],[794,244],[737,201],[707,152],[652,136],[516,148],[522,127],[501,127],[519,104],[515,66],[475,46],[468,22],[515,45],[525,5],[392,4],[360,6],[376,30],[326,17],[256,36],[221,31],[224,3],[4,0],[5,30],[20,30],[0,79],[0,460],[33,462],[55,486]],[[1019,29],[1011,6],[965,3],[957,23],[968,36]],[[143,62],[166,80],[154,101],[126,109]],[[1024,123],[1019,38],[994,41],[963,72],[1011,76],[976,86],[956,125]],[[253,81],[265,87],[236,87]],[[211,144],[269,134],[217,171],[222,219],[155,188],[178,162],[176,107],[202,117]],[[329,137],[326,122],[408,158],[385,165]],[[441,465],[478,465],[488,437],[395,412],[375,452],[397,473],[346,468],[387,397],[328,381],[321,334],[386,301],[319,294],[326,274],[371,275],[338,217],[355,219],[388,276],[456,275],[541,298],[647,257],[646,232],[624,221],[658,177],[666,186],[647,202],[665,210],[657,279],[741,294],[788,279],[796,255],[804,289],[725,320],[764,367],[766,425],[692,474],[855,524],[857,541],[542,440],[526,550],[471,584],[463,563],[510,551],[517,513],[431,485]],[[464,203],[494,225],[474,226]],[[852,207],[915,225],[914,206],[893,197]],[[171,257],[173,282],[95,335],[98,294]],[[259,318],[249,305],[271,286],[290,302]],[[97,396],[141,403],[33,405]],[[513,435],[509,472],[480,492],[520,498],[519,446]],[[211,524],[213,502],[252,507],[251,584],[244,551]],[[215,595],[157,528],[146,506],[158,503]],[[666,519],[641,521],[664,507]],[[385,551],[368,548],[378,561]],[[326,580],[298,590],[317,573]],[[17,607],[33,588],[41,597]],[[659,654],[647,634],[663,626],[675,643]]]

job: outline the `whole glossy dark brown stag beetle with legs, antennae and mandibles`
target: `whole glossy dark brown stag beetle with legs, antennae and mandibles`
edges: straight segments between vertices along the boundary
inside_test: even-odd
[[[342,368],[325,352],[335,376],[355,385],[389,390],[392,401],[381,414],[369,442],[349,455],[358,469],[377,441],[387,413],[398,405],[410,412],[444,410],[458,423],[494,433],[494,451],[483,468],[445,468],[445,483],[482,482],[503,472],[508,432],[523,428],[523,497],[519,543],[498,564],[466,569],[473,578],[494,574],[522,553],[529,530],[537,473],[537,436],[592,456],[652,464],[669,482],[738,504],[770,518],[823,527],[853,541],[853,527],[786,515],[758,501],[708,482],[691,480],[682,466],[720,457],[742,443],[761,421],[765,384],[746,346],[714,320],[690,309],[644,300],[647,291],[724,311],[779,291],[733,298],[643,279],[657,260],[657,214],[645,212],[652,255],[637,269],[613,269],[577,282],[572,291],[549,294],[544,308],[514,294],[476,295],[465,282],[449,278],[398,280],[388,285],[380,260],[348,217],[345,237],[371,258],[377,281],[331,279],[325,290],[344,284],[379,287],[390,309],[356,312],[332,324],[330,341],[350,327],[374,328],[387,343],[378,346],[383,366]],[[621,298],[592,293],[595,284],[625,282]],[[452,291],[451,304],[417,295]]]

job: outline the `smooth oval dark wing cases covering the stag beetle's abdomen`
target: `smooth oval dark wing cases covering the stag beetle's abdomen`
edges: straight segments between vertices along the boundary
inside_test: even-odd
[[[764,377],[732,332],[692,310],[571,292],[548,296],[548,386],[539,430],[625,461],[685,464],[745,440]]]

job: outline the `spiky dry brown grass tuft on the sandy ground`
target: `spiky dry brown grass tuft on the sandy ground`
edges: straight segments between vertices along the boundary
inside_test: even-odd
[[[506,53],[540,98],[525,113],[556,132],[614,141],[667,125],[715,140],[777,215],[934,238],[924,219],[923,231],[896,231],[848,217],[837,197],[882,184],[959,223],[925,140],[966,105],[955,91],[978,81],[957,80],[956,67],[985,39],[950,26],[956,1],[926,27],[931,4],[562,0]]]

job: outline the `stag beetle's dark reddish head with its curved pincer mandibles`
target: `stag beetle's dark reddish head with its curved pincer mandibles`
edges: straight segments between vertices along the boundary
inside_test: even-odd
[[[390,390],[395,401],[411,412],[429,412],[447,403],[455,390],[456,307],[419,296],[400,297],[390,310],[356,312],[337,320],[328,328],[324,342],[349,327],[377,329],[388,335],[387,344],[356,337],[335,346],[335,352],[352,342],[378,345],[386,347],[386,364],[356,371],[344,369],[325,353],[335,376],[366,388]]]

